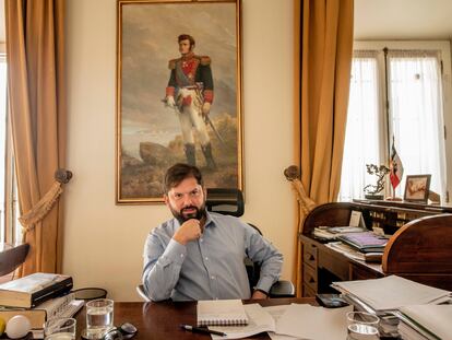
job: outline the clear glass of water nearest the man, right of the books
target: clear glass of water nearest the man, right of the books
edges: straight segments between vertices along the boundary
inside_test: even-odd
[[[90,339],[102,339],[112,327],[112,300],[97,298],[86,303],[86,332]]]

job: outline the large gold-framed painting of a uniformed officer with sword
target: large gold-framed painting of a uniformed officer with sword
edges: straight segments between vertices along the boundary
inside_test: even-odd
[[[163,202],[166,169],[243,189],[240,0],[118,0],[116,202]]]

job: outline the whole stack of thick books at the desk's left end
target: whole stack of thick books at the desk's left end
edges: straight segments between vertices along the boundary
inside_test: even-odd
[[[43,338],[44,323],[71,317],[83,306],[70,293],[72,286],[70,275],[43,272],[0,284],[0,317],[8,323],[23,315],[31,321],[34,338]]]

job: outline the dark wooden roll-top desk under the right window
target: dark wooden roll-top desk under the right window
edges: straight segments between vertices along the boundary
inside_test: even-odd
[[[317,226],[348,225],[352,210],[366,225],[393,234],[382,265],[350,259],[312,237]],[[376,279],[397,274],[428,285],[452,290],[452,210],[449,207],[355,201],[317,207],[306,218],[299,241],[302,248],[302,295],[328,293],[333,281]]]

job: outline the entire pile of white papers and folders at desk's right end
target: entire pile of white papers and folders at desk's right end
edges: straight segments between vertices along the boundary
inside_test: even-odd
[[[448,324],[435,314],[444,312],[450,316],[451,292],[420,284],[396,275],[373,280],[334,282],[332,286],[343,294],[358,310],[376,313],[380,316],[381,335],[402,336],[402,339],[450,339],[436,337]],[[427,318],[420,317],[426,310]],[[430,310],[430,312],[427,312]],[[449,325],[450,328],[450,325]],[[449,331],[450,332],[450,331]]]

